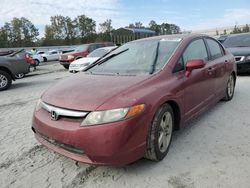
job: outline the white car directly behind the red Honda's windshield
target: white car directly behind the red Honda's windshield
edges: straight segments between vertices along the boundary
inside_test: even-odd
[[[77,59],[73,61],[69,66],[69,72],[71,73],[77,73],[80,71],[84,71],[89,65],[94,63],[96,60],[98,60],[100,57],[103,57],[107,53],[109,53],[111,50],[117,48],[116,46],[111,47],[103,47],[98,48],[91,52],[87,57]]]

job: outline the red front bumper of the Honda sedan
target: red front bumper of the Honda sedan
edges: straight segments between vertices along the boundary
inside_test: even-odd
[[[36,139],[53,151],[83,163],[125,165],[143,157],[148,115],[110,124],[81,127],[79,119],[50,119],[44,110],[34,113]]]

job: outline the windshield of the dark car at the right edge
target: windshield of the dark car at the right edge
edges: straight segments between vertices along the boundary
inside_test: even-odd
[[[232,47],[250,47],[250,35],[230,36],[224,42],[226,48]]]

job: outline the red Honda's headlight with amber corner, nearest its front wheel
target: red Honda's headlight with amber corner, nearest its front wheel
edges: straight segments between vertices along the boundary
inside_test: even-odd
[[[144,104],[132,106],[130,108],[119,108],[106,111],[95,111],[88,114],[88,116],[83,120],[82,126],[88,125],[98,125],[111,123],[115,121],[120,121],[133,117],[145,108]]]

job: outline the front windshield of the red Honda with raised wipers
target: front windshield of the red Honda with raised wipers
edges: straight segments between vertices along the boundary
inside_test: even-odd
[[[146,40],[124,44],[99,60],[91,73],[149,74],[160,70],[179,44],[178,40]],[[102,63],[102,61],[104,61]]]

